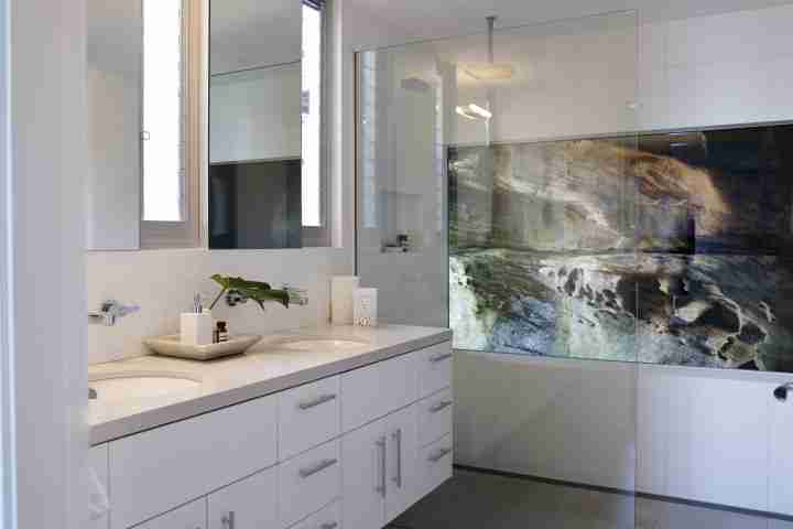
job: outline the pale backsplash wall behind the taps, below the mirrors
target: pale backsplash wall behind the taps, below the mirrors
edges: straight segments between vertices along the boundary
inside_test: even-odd
[[[259,334],[322,324],[329,319],[329,278],[352,272],[349,250],[148,250],[86,253],[88,307],[107,299],[139,304],[141,311],[116,326],[88,326],[88,361],[110,361],[146,354],[145,336],[178,332],[180,312],[192,305],[193,294],[217,292],[213,273],[242,276],[308,290],[307,306],[289,310],[270,304],[267,312],[253,303],[215,313],[227,319],[230,332]]]

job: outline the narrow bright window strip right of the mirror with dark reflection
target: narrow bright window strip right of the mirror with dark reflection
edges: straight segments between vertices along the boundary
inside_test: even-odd
[[[302,208],[303,226],[324,226],[323,149],[323,2],[303,2],[302,62]]]

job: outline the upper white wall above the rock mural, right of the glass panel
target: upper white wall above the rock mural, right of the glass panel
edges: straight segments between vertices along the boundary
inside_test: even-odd
[[[642,130],[793,119],[793,4],[639,28]]]

